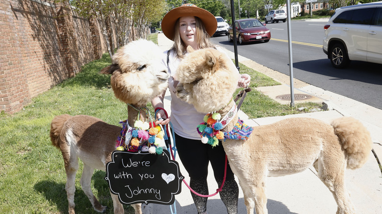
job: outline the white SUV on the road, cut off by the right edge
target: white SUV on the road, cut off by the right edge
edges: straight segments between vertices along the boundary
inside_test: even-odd
[[[382,64],[382,2],[337,8],[324,29],[322,48],[335,68],[351,60]]]

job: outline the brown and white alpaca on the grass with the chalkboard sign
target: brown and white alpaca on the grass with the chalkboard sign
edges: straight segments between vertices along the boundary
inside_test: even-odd
[[[115,96],[126,104],[137,108],[145,107],[147,102],[167,88],[169,77],[167,68],[161,65],[162,51],[157,45],[146,40],[131,42],[121,47],[113,56],[113,63],[102,69],[101,73],[112,74],[111,85]],[[128,123],[134,127],[138,111],[127,106]],[[143,117],[145,117],[145,112]],[[91,190],[91,178],[95,169],[106,169],[111,154],[116,150],[116,140],[121,127],[107,124],[100,119],[87,115],[54,117],[51,122],[50,139],[52,145],[61,150],[67,174],[66,191],[69,201],[69,213],[74,214],[75,174],[78,170],[78,158],[84,169],[81,187],[89,197],[95,211],[104,212]],[[118,195],[111,193],[114,213],[123,214]],[[132,205],[136,214],[141,214],[141,204]]]

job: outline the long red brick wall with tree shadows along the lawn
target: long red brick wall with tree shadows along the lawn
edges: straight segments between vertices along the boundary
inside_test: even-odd
[[[74,76],[107,51],[97,21],[42,0],[0,1],[0,111]]]

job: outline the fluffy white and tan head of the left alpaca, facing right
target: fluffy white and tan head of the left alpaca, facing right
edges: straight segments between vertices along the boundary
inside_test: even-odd
[[[101,73],[112,74],[111,86],[120,101],[142,107],[167,88],[169,75],[161,62],[163,55],[151,41],[133,41],[119,48],[113,64]]]

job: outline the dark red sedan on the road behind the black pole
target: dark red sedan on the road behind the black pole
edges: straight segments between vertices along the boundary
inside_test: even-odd
[[[270,30],[258,19],[242,19],[235,21],[237,40],[240,44],[251,41],[269,42]],[[228,30],[228,41],[232,42],[234,31],[232,24]]]

